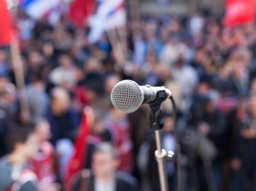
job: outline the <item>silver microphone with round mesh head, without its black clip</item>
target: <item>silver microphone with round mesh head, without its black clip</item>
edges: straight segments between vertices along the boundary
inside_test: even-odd
[[[111,91],[111,102],[115,108],[123,113],[136,111],[143,103],[154,103],[158,93],[164,92],[165,98],[171,97],[171,91],[162,87],[150,85],[139,86],[132,80],[118,82]]]

